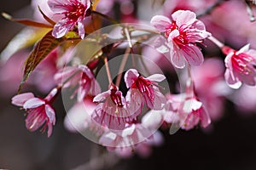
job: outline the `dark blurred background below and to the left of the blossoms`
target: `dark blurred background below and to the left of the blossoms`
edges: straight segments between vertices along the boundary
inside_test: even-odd
[[[28,0],[4,0],[0,11],[25,16],[28,4]],[[0,23],[2,51],[22,26],[3,18]],[[5,86],[0,84],[2,89]],[[11,97],[0,94],[0,169],[73,169],[90,160],[96,144],[63,127],[61,99],[55,104],[60,114],[48,139],[45,133],[26,130],[25,116],[10,104]],[[229,102],[224,117],[210,129],[180,130],[172,136],[166,131],[164,137],[165,143],[148,158],[134,156],[106,169],[256,169],[256,116],[238,113]]]

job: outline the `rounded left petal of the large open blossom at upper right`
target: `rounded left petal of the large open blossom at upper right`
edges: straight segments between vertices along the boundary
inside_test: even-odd
[[[164,32],[168,29],[170,25],[172,25],[172,22],[166,16],[155,15],[151,19],[150,24],[154,26],[158,31]]]

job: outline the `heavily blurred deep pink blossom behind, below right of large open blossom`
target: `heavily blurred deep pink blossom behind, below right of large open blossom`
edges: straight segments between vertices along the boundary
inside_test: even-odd
[[[224,81],[223,60],[205,59],[202,65],[191,68],[191,74],[196,96],[205,105],[211,120],[217,121],[224,113],[224,96],[230,94],[230,88]]]

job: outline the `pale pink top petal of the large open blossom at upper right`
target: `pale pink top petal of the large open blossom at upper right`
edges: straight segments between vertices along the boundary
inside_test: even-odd
[[[176,21],[178,27],[183,24],[189,26],[195,22],[196,15],[189,10],[178,10],[172,14],[172,20]]]

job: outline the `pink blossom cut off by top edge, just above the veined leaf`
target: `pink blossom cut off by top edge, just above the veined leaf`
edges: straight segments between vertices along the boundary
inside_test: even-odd
[[[84,18],[90,8],[90,0],[48,0],[49,8],[55,14],[63,14],[52,31],[56,38],[63,37],[68,31],[78,26],[79,37],[84,38]]]

